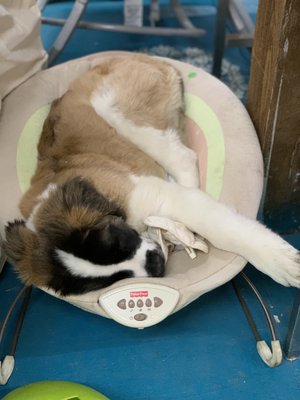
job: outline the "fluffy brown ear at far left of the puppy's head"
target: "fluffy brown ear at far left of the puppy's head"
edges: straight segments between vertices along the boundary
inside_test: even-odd
[[[40,268],[39,241],[35,232],[28,229],[23,220],[9,222],[5,227],[3,249],[25,284],[44,284],[41,274],[38,281],[35,269]]]

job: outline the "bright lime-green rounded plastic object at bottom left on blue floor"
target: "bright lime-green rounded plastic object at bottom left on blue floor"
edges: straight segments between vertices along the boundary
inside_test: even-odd
[[[103,394],[79,383],[36,382],[13,390],[2,400],[109,400]]]

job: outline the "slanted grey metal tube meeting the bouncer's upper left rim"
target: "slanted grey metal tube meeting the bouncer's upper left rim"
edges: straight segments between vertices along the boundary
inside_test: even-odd
[[[49,51],[48,65],[51,65],[56,57],[61,53],[70,39],[72,33],[77,27],[78,21],[85,11],[88,0],[76,0],[75,4],[67,18],[62,30],[55,39],[52,48]]]

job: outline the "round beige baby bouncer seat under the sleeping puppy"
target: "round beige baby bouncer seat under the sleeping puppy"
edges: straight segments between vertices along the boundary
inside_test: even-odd
[[[0,120],[0,232],[21,217],[18,202],[28,189],[37,162],[37,143],[50,104],[71,81],[109,57],[105,52],[73,60],[35,76],[9,94]],[[186,132],[199,158],[200,187],[212,197],[255,218],[263,186],[263,163],[252,122],[236,96],[219,80],[191,65],[165,59],[181,73]],[[194,210],[195,213],[197,210]],[[246,261],[209,244],[191,258],[183,249],[170,254],[163,278],[131,278],[105,289],[60,297],[83,310],[135,328],[157,324],[204,293],[231,280]]]

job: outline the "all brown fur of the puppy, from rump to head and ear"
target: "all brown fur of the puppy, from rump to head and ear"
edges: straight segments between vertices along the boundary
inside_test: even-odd
[[[125,217],[131,175],[166,176],[160,165],[95,112],[90,97],[102,85],[111,86],[120,111],[137,125],[183,126],[180,77],[161,60],[144,55],[112,58],[73,82],[52,104],[44,123],[37,170],[20,202],[24,217],[30,217],[50,183],[57,189],[32,216],[36,232],[24,221],[6,230],[5,250],[26,284],[47,286],[53,281],[60,273],[54,249],[74,230],[87,232],[110,214]]]

